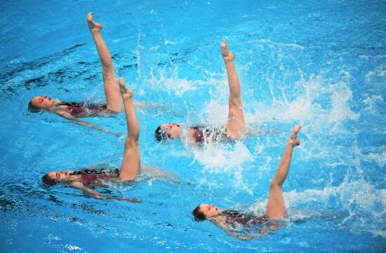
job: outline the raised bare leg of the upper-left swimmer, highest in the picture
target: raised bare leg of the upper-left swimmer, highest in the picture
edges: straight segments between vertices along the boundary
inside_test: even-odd
[[[119,93],[117,76],[115,76],[114,67],[112,66],[112,58],[109,53],[109,49],[107,48],[105,41],[103,41],[102,35],[100,34],[102,25],[100,25],[98,22],[94,22],[93,13],[88,13],[87,24],[91,34],[93,35],[95,46],[97,47],[100,57],[100,62],[102,62],[102,76],[103,84],[105,86],[107,109],[116,112],[122,111],[121,93]]]

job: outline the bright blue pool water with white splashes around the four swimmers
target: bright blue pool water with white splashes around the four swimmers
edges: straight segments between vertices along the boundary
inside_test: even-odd
[[[1,252],[385,252],[385,1],[1,1]],[[118,76],[138,109],[142,165],[178,179],[142,177],[95,200],[50,170],[119,167],[124,137],[50,114],[34,95],[103,101],[94,12]],[[236,55],[251,137],[192,148],[157,144],[159,123],[227,116],[220,42]],[[89,118],[125,132],[124,114]],[[284,226],[251,241],[192,220],[199,203],[264,214],[288,132],[302,124],[284,184]]]

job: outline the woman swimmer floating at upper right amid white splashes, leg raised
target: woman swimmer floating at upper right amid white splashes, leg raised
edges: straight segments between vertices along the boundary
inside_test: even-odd
[[[227,69],[229,83],[229,108],[227,128],[224,131],[210,130],[199,125],[192,125],[187,128],[187,138],[192,143],[200,144],[204,140],[211,141],[225,139],[240,139],[245,130],[243,104],[241,101],[241,86],[234,68],[234,54],[227,48],[227,40],[221,43],[221,54]],[[182,127],[177,123],[164,123],[155,130],[157,141],[162,139],[184,139]]]

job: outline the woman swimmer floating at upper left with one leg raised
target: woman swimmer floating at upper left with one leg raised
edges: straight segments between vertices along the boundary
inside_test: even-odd
[[[105,41],[100,34],[102,25],[93,20],[93,13],[87,15],[88,29],[93,36],[95,46],[97,47],[100,62],[102,63],[103,85],[105,87],[106,104],[86,104],[86,102],[69,102],[58,99],[53,99],[48,96],[33,97],[28,104],[29,111],[49,111],[58,114],[63,118],[67,118],[73,123],[84,125],[88,128],[94,128],[102,132],[110,132],[103,130],[99,125],[83,121],[80,118],[112,116],[122,111],[121,93],[117,85],[117,77],[112,65],[112,57],[107,49]],[[135,104],[141,106],[140,103]]]

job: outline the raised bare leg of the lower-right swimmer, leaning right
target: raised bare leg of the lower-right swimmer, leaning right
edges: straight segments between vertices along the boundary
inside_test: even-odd
[[[283,183],[286,181],[288,175],[293,148],[300,145],[300,140],[297,136],[300,128],[302,128],[301,125],[296,125],[295,128],[293,128],[286,145],[286,150],[284,150],[283,157],[279,163],[279,167],[277,167],[274,178],[269,185],[267,205],[267,217],[269,219],[280,219],[286,213],[283,199]]]

